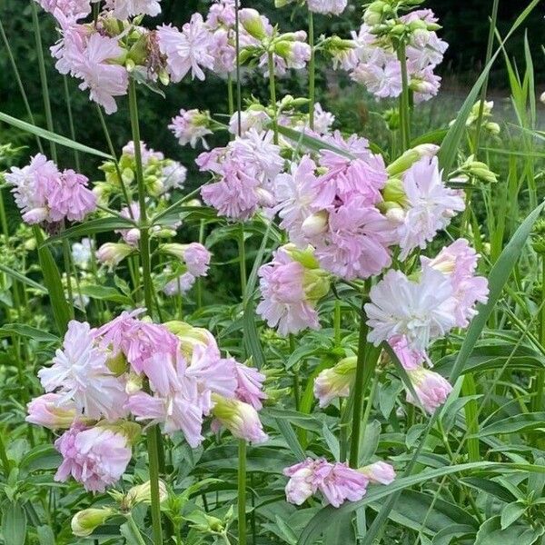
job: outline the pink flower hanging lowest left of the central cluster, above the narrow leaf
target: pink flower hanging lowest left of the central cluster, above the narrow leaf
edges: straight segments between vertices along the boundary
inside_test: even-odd
[[[259,269],[263,301],[256,312],[281,335],[319,329],[318,312],[304,290],[305,268],[279,249],[271,263]]]

